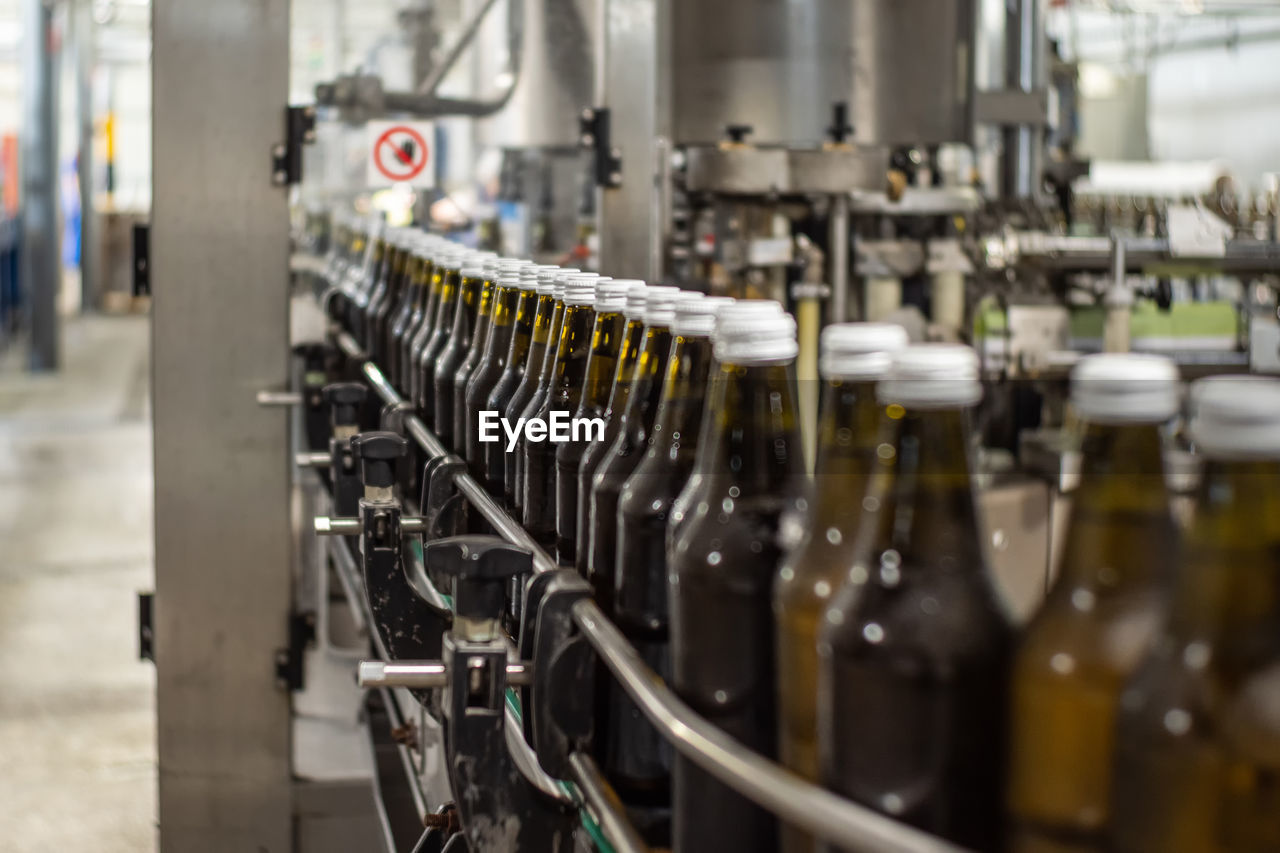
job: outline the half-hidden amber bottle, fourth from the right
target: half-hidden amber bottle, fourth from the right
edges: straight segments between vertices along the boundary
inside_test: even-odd
[[[778,656],[778,758],[819,781],[818,625],[822,611],[854,565],[863,498],[879,443],[876,383],[890,353],[906,346],[900,325],[840,323],[823,329],[818,462],[804,530],[782,561],[773,588]],[[797,512],[797,516],[800,514]],[[812,852],[814,839],[785,826],[782,848]]]

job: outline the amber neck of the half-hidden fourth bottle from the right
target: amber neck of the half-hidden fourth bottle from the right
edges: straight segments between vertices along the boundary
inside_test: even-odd
[[[851,525],[865,497],[879,443],[876,382],[826,379],[819,410],[815,521],[822,526]]]

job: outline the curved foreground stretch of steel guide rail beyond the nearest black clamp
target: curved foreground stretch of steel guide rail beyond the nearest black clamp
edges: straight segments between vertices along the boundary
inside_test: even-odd
[[[589,598],[573,621],[663,736],[707,772],[780,818],[849,850],[956,853],[961,848],[800,779],[712,725],[672,693]]]

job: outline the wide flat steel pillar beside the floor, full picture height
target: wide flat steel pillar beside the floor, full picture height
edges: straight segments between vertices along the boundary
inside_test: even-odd
[[[156,715],[163,853],[293,849],[288,0],[152,5]]]

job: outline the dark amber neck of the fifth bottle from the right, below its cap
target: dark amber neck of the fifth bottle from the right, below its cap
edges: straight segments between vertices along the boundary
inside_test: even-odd
[[[698,471],[710,493],[783,494],[803,476],[795,364],[719,364],[699,441]]]

